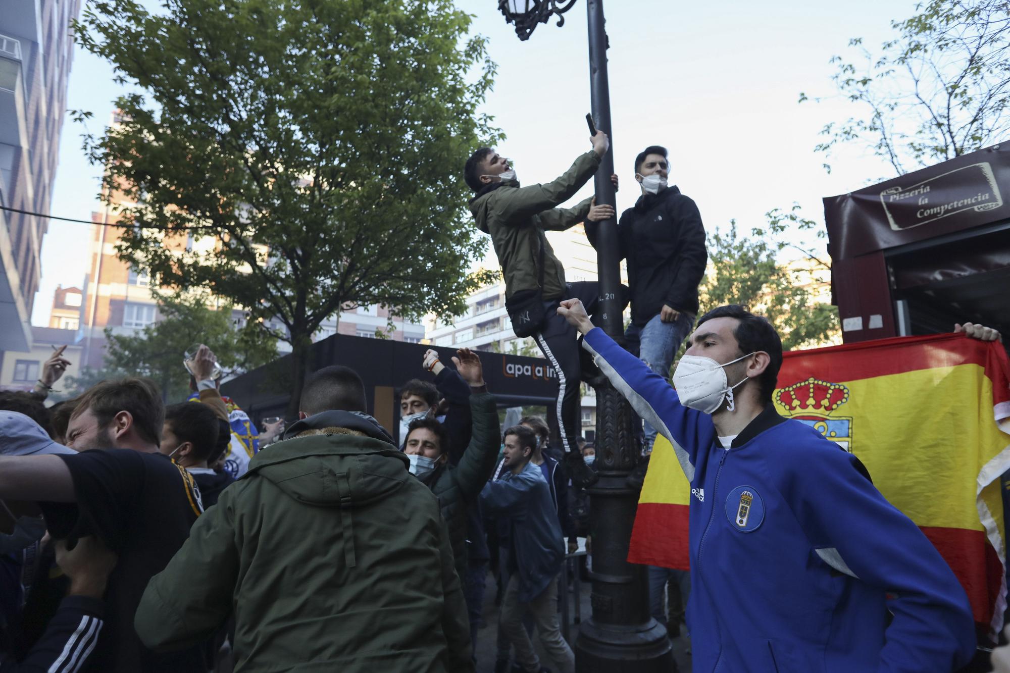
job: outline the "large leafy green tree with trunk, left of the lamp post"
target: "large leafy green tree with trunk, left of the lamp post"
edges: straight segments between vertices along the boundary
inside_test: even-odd
[[[76,24],[143,91],[85,136],[130,202],[118,254],[291,344],[289,415],[341,306],[448,316],[484,280],[462,169],[500,135],[477,112],[495,66],[470,22],[450,0],[96,0]]]

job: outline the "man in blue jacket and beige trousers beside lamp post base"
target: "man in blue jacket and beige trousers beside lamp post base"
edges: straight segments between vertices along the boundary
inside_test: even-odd
[[[515,648],[523,671],[540,671],[540,662],[522,623],[525,611],[533,615],[540,643],[563,673],[574,670],[575,655],[561,635],[558,620],[558,575],[565,563],[565,541],[553,511],[550,488],[531,458],[536,435],[524,425],[505,430],[505,467],[498,481],[481,491],[481,503],[490,514],[508,521],[510,574],[502,601],[502,629]],[[580,458],[581,460],[581,458]]]

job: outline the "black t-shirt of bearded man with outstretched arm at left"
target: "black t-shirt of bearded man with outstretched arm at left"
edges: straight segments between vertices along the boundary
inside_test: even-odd
[[[49,534],[58,540],[97,534],[119,555],[105,592],[106,623],[85,670],[203,673],[199,648],[157,655],[133,630],[147,582],[186,542],[202,511],[193,478],[157,453],[111,449],[60,458],[74,478],[77,503],[41,503]]]

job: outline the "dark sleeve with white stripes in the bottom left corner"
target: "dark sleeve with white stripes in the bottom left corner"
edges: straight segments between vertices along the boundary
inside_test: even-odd
[[[0,673],[78,673],[102,630],[102,601],[67,596],[24,661],[0,661]]]

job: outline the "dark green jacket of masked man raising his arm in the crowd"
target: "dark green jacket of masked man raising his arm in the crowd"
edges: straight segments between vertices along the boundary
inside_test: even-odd
[[[448,537],[456,556],[456,571],[466,577],[467,519],[471,507],[477,507],[477,496],[495,470],[495,459],[501,446],[498,406],[489,393],[470,396],[473,434],[470,446],[459,465],[443,465],[422,479],[441,503],[442,518],[448,525]]]

